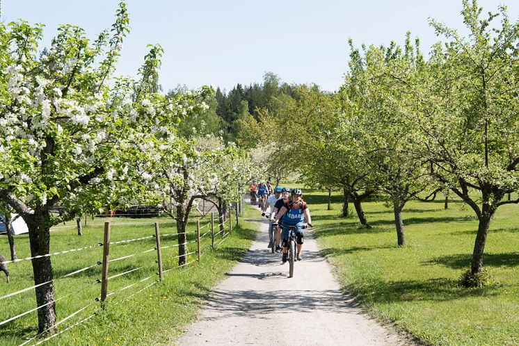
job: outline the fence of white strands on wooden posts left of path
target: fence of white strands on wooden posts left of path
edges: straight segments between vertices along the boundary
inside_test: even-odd
[[[239,206],[237,206],[236,208],[239,208]],[[31,309],[29,309],[27,311],[24,311],[22,313],[18,313],[17,315],[14,315],[14,316],[12,316],[10,318],[7,318],[6,320],[3,320],[3,321],[0,322],[0,326],[2,326],[4,324],[8,324],[9,322],[13,322],[14,320],[22,318],[22,317],[24,317],[26,315],[29,315],[31,313],[34,313],[35,311],[38,311],[41,308],[44,308],[45,306],[49,306],[50,304],[55,304],[56,302],[59,302],[59,301],[61,301],[63,299],[66,299],[66,298],[71,297],[73,295],[77,295],[78,293],[83,292],[83,291],[87,290],[88,288],[92,288],[96,284],[102,283],[102,286],[106,287],[106,285],[104,284],[104,281],[109,281],[109,280],[117,279],[117,278],[120,278],[120,277],[125,277],[125,276],[127,276],[129,274],[136,273],[136,272],[138,272],[140,270],[146,269],[143,266],[141,266],[141,267],[134,267],[134,268],[131,268],[129,270],[125,270],[124,272],[120,272],[120,273],[108,276],[107,273],[108,273],[108,264],[109,263],[122,262],[122,261],[125,261],[125,260],[129,259],[129,258],[134,258],[136,256],[140,256],[140,255],[144,255],[144,254],[148,254],[148,253],[152,253],[152,252],[157,252],[157,254],[159,256],[159,261],[154,261],[154,263],[156,265],[157,262],[161,263],[161,252],[160,252],[161,249],[169,249],[169,248],[174,248],[174,247],[181,247],[181,245],[184,245],[184,253],[179,254],[178,256],[168,257],[168,260],[175,260],[177,258],[183,258],[182,262],[180,262],[178,265],[173,265],[173,267],[170,267],[167,270],[162,270],[162,268],[159,267],[159,272],[161,273],[160,279],[158,279],[158,280],[156,279],[156,280],[152,281],[150,284],[147,284],[146,286],[144,286],[143,288],[140,288],[136,292],[131,293],[131,295],[125,296],[125,298],[122,299],[119,303],[125,302],[128,299],[130,299],[131,297],[134,297],[135,295],[138,295],[139,293],[143,292],[143,290],[146,290],[147,288],[151,288],[156,283],[160,282],[162,280],[162,274],[166,274],[168,272],[172,272],[173,270],[189,270],[190,268],[192,268],[193,266],[191,264],[200,261],[200,258],[202,256],[202,250],[203,250],[203,252],[206,252],[209,249],[213,249],[214,247],[216,247],[218,245],[221,245],[228,238],[228,236],[232,232],[233,216],[232,216],[232,212],[231,211],[232,211],[232,209],[229,208],[228,209],[228,215],[227,215],[227,213],[223,213],[222,215],[219,215],[216,218],[213,215],[211,215],[211,221],[209,221],[209,222],[207,222],[207,223],[205,223],[203,225],[200,225],[200,220],[198,220],[198,222],[197,222],[197,226],[198,227],[197,227],[197,229],[195,231],[184,231],[183,233],[168,233],[168,234],[160,235],[158,233],[159,226],[158,226],[157,223],[155,223],[155,227],[156,227],[157,233],[153,234],[153,235],[150,235],[150,236],[143,236],[143,237],[139,237],[139,238],[118,240],[118,241],[114,241],[114,242],[109,242],[109,241],[108,242],[99,242],[97,245],[90,245],[90,246],[87,246],[87,247],[80,247],[80,248],[77,248],[77,249],[67,249],[67,250],[63,250],[63,251],[60,251],[60,252],[53,252],[51,254],[43,254],[43,255],[39,255],[39,256],[33,256],[33,257],[27,257],[27,258],[19,258],[19,259],[15,259],[14,261],[3,261],[3,262],[1,262],[1,264],[17,263],[17,262],[22,262],[22,261],[30,261],[30,260],[33,260],[35,258],[59,256],[59,255],[71,254],[71,253],[75,253],[75,252],[82,252],[83,250],[94,249],[96,247],[104,247],[108,251],[108,247],[110,245],[122,245],[122,244],[127,244],[129,242],[137,242],[137,241],[140,241],[140,240],[147,240],[147,239],[152,239],[152,238],[159,238],[159,240],[167,240],[168,238],[173,237],[173,236],[179,236],[179,237],[180,236],[184,236],[184,242],[182,242],[180,244],[159,246],[160,242],[157,242],[157,244],[158,244],[157,247],[148,248],[148,249],[145,249],[145,250],[140,251],[140,252],[135,252],[133,254],[126,254],[125,256],[119,256],[119,257],[113,258],[113,259],[109,259],[109,256],[106,256],[106,253],[105,253],[104,256],[107,257],[106,261],[97,261],[97,263],[95,263],[93,265],[88,265],[86,267],[82,267],[82,268],[74,270],[72,272],[68,272],[66,274],[61,275],[60,277],[55,278],[55,279],[51,279],[51,280],[45,281],[43,283],[38,283],[38,284],[35,284],[33,286],[22,288],[22,289],[17,290],[17,291],[15,291],[13,293],[8,293],[6,295],[3,295],[3,296],[0,297],[0,300],[7,299],[7,298],[10,298],[10,297],[15,297],[16,295],[20,295],[22,293],[26,293],[28,291],[35,290],[35,289],[40,288],[42,286],[49,285],[50,283],[54,283],[56,281],[59,281],[59,280],[65,279],[65,278],[70,278],[70,277],[72,277],[72,276],[74,276],[76,274],[79,274],[79,273],[82,273],[82,272],[86,272],[87,270],[90,270],[93,267],[97,267],[99,265],[102,265],[103,266],[102,271],[106,272],[106,277],[105,277],[105,275],[102,275],[102,279],[97,279],[96,281],[91,282],[91,283],[87,283],[86,285],[80,286],[79,288],[74,287],[74,291],[72,293],[68,293],[66,295],[63,295],[62,297],[58,297],[57,299],[51,300],[51,302],[47,302],[46,304],[42,304],[40,306],[36,306],[35,308],[31,308]],[[238,222],[237,216],[236,216],[236,222]],[[106,222],[105,224],[110,224],[110,223]],[[139,224],[142,224],[142,223],[139,223]],[[215,229],[216,228],[219,228],[220,231],[215,233]],[[107,226],[107,227],[105,226],[105,231],[106,231],[106,229],[110,229],[110,225]],[[202,231],[204,231],[204,232],[202,233]],[[196,234],[195,239],[190,239],[190,240],[188,239],[188,235],[191,235],[191,234]],[[215,238],[218,238],[218,237],[220,237],[220,239],[215,244]],[[106,239],[106,235],[105,235],[105,239]],[[204,240],[204,241],[202,241],[202,240]],[[197,244],[197,249],[194,250],[194,251],[189,251],[189,245],[191,245],[193,243],[198,243]],[[198,258],[189,260],[191,258],[190,256],[193,255],[193,254],[198,254]],[[189,261],[186,261],[186,260],[189,260]],[[191,267],[188,267],[189,265],[191,265]],[[150,270],[150,268],[147,268],[147,269]],[[159,274],[159,272],[157,272],[157,274]],[[74,311],[73,313],[70,313],[69,315],[67,315],[67,317],[65,317],[62,320],[56,322],[56,324],[54,324],[54,326],[49,327],[49,329],[45,330],[43,333],[47,333],[51,329],[55,329],[56,327],[60,326],[61,324],[65,323],[65,322],[67,322],[69,320],[72,320],[72,318],[74,318],[75,316],[79,315],[81,312],[86,311],[86,309],[89,308],[90,306],[93,306],[96,301],[97,302],[101,301],[102,304],[103,304],[104,301],[106,301],[107,297],[113,297],[114,295],[117,295],[118,293],[121,293],[121,292],[123,292],[125,290],[129,290],[129,288],[134,288],[135,286],[138,286],[140,283],[143,283],[145,281],[153,279],[154,277],[156,277],[156,275],[148,275],[147,277],[145,277],[143,279],[139,279],[136,282],[129,283],[129,284],[123,286],[122,288],[117,288],[117,289],[111,291],[110,293],[107,293],[106,291],[104,291],[104,288],[102,288],[101,298],[100,299],[99,299],[99,297],[93,298],[92,302],[86,304],[85,306],[82,306],[77,311]],[[104,305],[102,305],[102,307],[104,307]],[[66,327],[65,329],[62,329],[61,331],[57,331],[56,333],[53,333],[51,336],[48,336],[47,338],[37,340],[40,335],[36,335],[33,338],[30,338],[29,340],[26,340],[20,346],[27,345],[27,344],[29,344],[29,343],[31,343],[33,341],[36,341],[36,340],[37,340],[37,342],[34,343],[33,345],[40,345],[42,343],[45,343],[46,341],[51,340],[52,338],[56,338],[57,336],[61,335],[65,331],[68,331],[68,330],[70,330],[70,329],[72,329],[74,327],[77,327],[79,324],[90,320],[91,318],[93,318],[96,315],[96,313],[97,312],[94,312],[94,313],[88,315],[88,317],[83,318],[83,319],[75,322],[74,324],[71,324],[70,326]]]

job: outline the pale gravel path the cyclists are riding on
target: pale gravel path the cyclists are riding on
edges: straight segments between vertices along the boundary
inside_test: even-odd
[[[271,254],[268,220],[248,253],[214,290],[177,345],[408,345],[341,293],[312,232],[294,277]]]

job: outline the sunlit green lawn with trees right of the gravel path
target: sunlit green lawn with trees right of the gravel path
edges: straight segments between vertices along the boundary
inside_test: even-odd
[[[428,345],[519,345],[518,205],[502,206],[490,225],[484,266],[493,284],[465,289],[458,279],[470,265],[477,219],[461,201],[448,210],[442,197],[409,202],[407,245],[397,247],[392,210],[383,203],[364,204],[373,229],[359,229],[354,210],[338,216],[341,196],[333,196],[332,211],[327,197],[305,194],[314,234],[344,290],[371,315]]]

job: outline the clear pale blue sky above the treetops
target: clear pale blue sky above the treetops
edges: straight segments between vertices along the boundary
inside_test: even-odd
[[[3,21],[45,24],[44,45],[59,24],[83,26],[94,37],[111,26],[118,5],[113,0],[1,2]],[[485,12],[501,3],[518,20],[519,1],[479,0]],[[288,83],[337,90],[347,69],[349,38],[358,45],[401,43],[411,31],[428,52],[438,41],[428,17],[463,32],[461,0],[128,0],[127,7],[131,32],[117,73],[135,75],[147,44],[159,43],[165,51],[164,90],[178,84],[230,90],[237,83],[261,83],[267,71]]]

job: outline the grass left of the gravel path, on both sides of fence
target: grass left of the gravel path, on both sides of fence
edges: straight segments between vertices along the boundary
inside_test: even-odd
[[[245,217],[256,215],[257,212],[246,208]],[[202,220],[202,226],[209,220]],[[111,242],[152,236],[154,222],[159,222],[161,234],[175,233],[175,224],[168,218],[156,219],[111,219]],[[202,229],[206,232],[209,227]],[[216,229],[216,228],[215,228]],[[227,228],[228,230],[228,228]],[[195,231],[195,224],[190,224],[188,231]],[[217,230],[216,230],[217,231]],[[250,242],[257,231],[257,224],[240,220],[236,228],[225,241],[215,250],[210,249],[210,234],[202,238],[202,260],[195,261],[197,254],[189,256],[188,261],[193,263],[182,268],[177,267],[177,248],[163,249],[163,269],[175,268],[164,274],[164,280],[149,288],[139,290],[157,281],[157,252],[137,254],[131,258],[110,263],[109,276],[127,272],[142,267],[121,277],[109,281],[109,294],[121,288],[136,283],[135,286],[114,293],[107,299],[106,309],[99,309],[99,302],[95,298],[100,296],[102,247],[93,247],[81,252],[72,252],[52,256],[54,269],[57,320],[63,320],[74,311],[88,306],[70,320],[63,322],[58,330],[63,330],[77,321],[97,314],[90,320],[79,324],[60,336],[49,340],[45,345],[161,345],[174,343],[182,328],[195,320],[200,303],[209,294],[209,290],[218,281],[225,277],[225,272],[242,256],[250,246]],[[83,229],[83,236],[76,235],[74,227],[56,228],[51,232],[51,251],[60,252],[67,249],[88,247],[102,242],[102,220],[88,220]],[[188,240],[195,239],[195,233],[189,233]],[[163,236],[162,246],[175,245],[175,236]],[[216,238],[216,243],[221,236]],[[8,256],[7,238],[0,238],[0,252]],[[29,239],[26,235],[16,236],[16,248],[19,258],[29,256]],[[110,258],[120,258],[130,254],[153,249],[155,238],[147,238],[134,242],[114,244],[110,247]],[[196,242],[189,244],[189,252],[196,250]],[[72,277],[63,275],[94,265],[89,270],[75,274]],[[11,283],[1,282],[0,297],[13,293],[22,288],[32,286],[33,276],[30,261],[10,263]],[[3,273],[2,273],[3,274]],[[152,276],[141,283],[138,281]],[[1,300],[0,322],[19,313],[35,308],[33,290]],[[0,327],[0,345],[20,345],[35,335],[37,330],[36,313],[18,318]],[[28,343],[38,342],[35,339]]]

